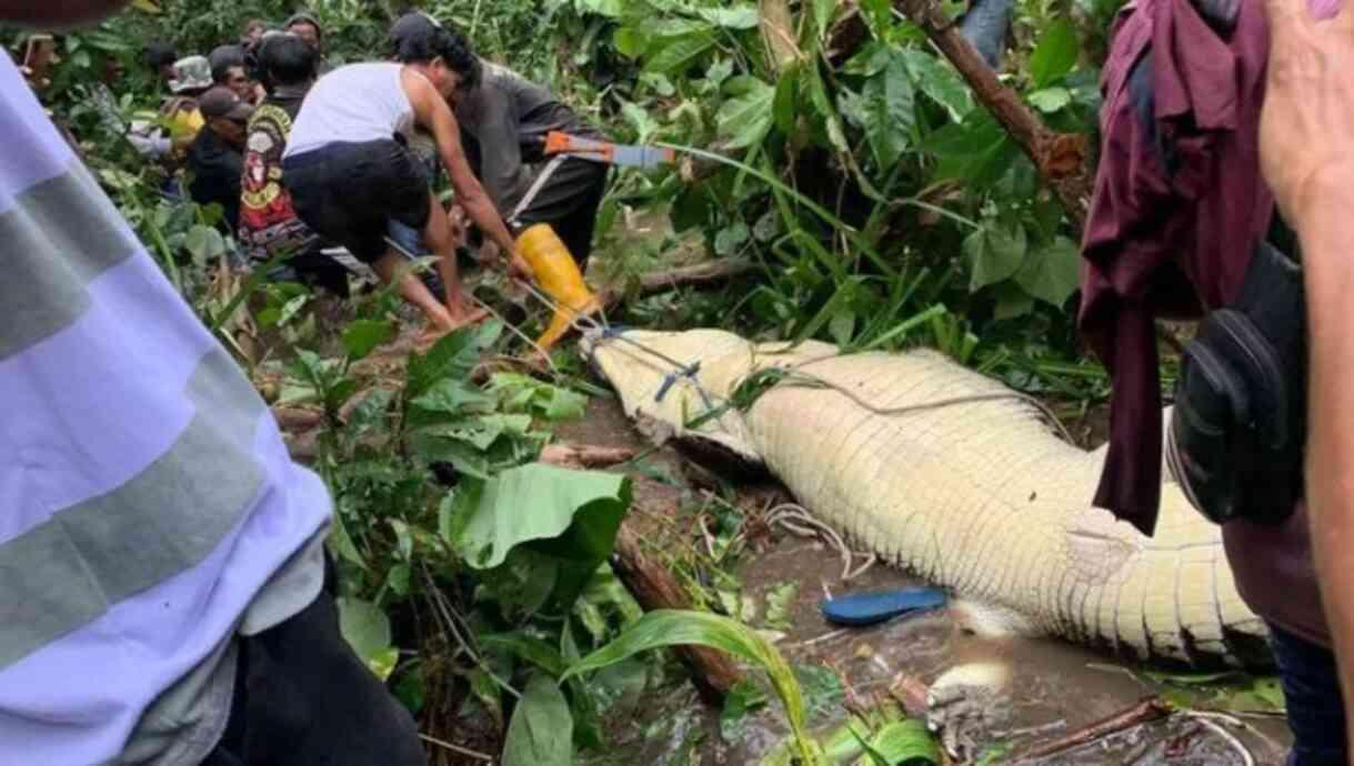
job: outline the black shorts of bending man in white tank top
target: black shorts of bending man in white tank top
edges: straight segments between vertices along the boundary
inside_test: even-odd
[[[297,217],[366,264],[389,252],[391,219],[428,225],[428,172],[394,139],[321,146],[283,160],[282,173]]]

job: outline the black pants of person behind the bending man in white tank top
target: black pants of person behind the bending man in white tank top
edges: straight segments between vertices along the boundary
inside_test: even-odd
[[[608,165],[570,157],[555,168],[527,210],[517,217],[517,229],[550,223],[580,268],[592,254],[597,208],[607,194]],[[502,211],[504,215],[508,211]]]

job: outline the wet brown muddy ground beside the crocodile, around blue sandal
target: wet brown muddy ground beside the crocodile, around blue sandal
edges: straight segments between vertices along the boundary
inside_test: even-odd
[[[624,418],[615,399],[596,398],[582,421],[556,429],[563,441],[603,447],[646,449],[650,443]],[[961,662],[1011,658],[1016,682],[1014,721],[995,742],[1018,751],[1047,743],[1087,724],[1133,708],[1145,697],[1170,692],[1143,675],[1143,669],[1116,663],[1062,641],[1047,639],[987,640],[964,635],[949,610],[904,618],[868,629],[837,629],[819,613],[829,594],[888,590],[922,585],[883,564],[873,566],[850,582],[842,581],[844,563],[838,551],[822,541],[802,539],[780,529],[758,528],[758,514],[769,503],[788,499],[784,490],[768,480],[719,482],[670,447],[658,449],[628,468],[635,480],[635,521],[649,529],[646,537],[659,540],[668,551],[682,547],[720,551],[711,533],[718,501],[707,487],[723,485],[724,497],[733,483],[734,505],[749,516],[745,525],[746,549],[726,562],[741,583],[735,608],[749,609],[753,624],[766,627],[768,605],[792,590],[788,614],[779,616],[772,629],[787,658],[802,667],[834,670],[845,689],[819,694],[812,725],[833,729],[846,717],[846,700],[865,700],[886,693],[899,677],[929,683]],[[857,559],[857,564],[860,560]],[[753,606],[747,608],[746,605]],[[724,606],[730,606],[726,601]],[[1177,690],[1178,692],[1178,690]],[[815,693],[810,693],[811,706]],[[631,706],[612,715],[613,735],[621,743],[615,757],[596,763],[745,765],[779,743],[784,734],[774,704],[753,715],[730,738],[720,735],[719,711],[703,705],[688,683],[670,685],[661,693],[646,692]],[[1221,728],[1242,743],[1254,763],[1280,765],[1288,747],[1288,734],[1274,716],[1246,715],[1244,728],[1221,723]],[[1045,765],[1244,765],[1227,735],[1216,732],[1217,720],[1175,716],[1163,723],[1135,727],[1122,735],[1034,761]],[[619,758],[619,759],[617,759]],[[995,762],[1002,762],[997,759]]]

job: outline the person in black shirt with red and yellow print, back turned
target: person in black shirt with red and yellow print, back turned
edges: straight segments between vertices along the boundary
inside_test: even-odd
[[[249,118],[238,240],[255,263],[283,256],[302,281],[347,296],[348,271],[321,253],[320,237],[297,217],[282,183],[292,120],[315,83],[314,50],[297,35],[274,32],[260,41],[257,57],[259,78],[271,89]]]

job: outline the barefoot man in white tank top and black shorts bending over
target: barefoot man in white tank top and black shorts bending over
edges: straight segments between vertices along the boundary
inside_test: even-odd
[[[471,311],[455,260],[447,214],[408,141],[421,126],[436,138],[459,204],[508,254],[515,273],[529,273],[502,217],[471,172],[448,99],[477,61],[451,35],[424,41],[406,64],[355,64],[320,78],[291,129],[283,181],[297,214],[320,235],[343,244],[428,317],[432,333],[447,333],[482,314]],[[387,245],[390,221],[424,233],[437,256],[444,300],[408,273],[408,261]]]

